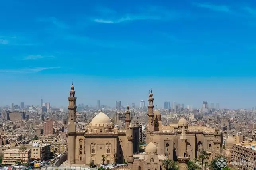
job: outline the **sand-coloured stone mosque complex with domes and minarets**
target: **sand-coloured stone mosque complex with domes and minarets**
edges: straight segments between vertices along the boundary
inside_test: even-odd
[[[209,160],[222,154],[222,132],[207,126],[188,126],[181,118],[178,124],[162,126],[161,113],[154,110],[152,90],[148,99],[148,124],[144,153],[139,151],[139,127],[133,126],[127,105],[125,130],[117,130],[111,119],[98,113],[85,130],[76,130],[76,97],[72,84],[68,97],[68,164],[96,165],[127,162],[126,169],[162,170],[162,160],[179,162],[179,170],[187,170],[189,160],[197,158],[204,149]]]

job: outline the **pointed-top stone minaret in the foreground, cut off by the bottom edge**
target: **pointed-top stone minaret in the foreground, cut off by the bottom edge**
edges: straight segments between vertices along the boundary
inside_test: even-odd
[[[188,161],[190,158],[187,153],[187,137],[184,126],[182,127],[182,132],[179,140],[180,152],[178,156],[179,170],[188,170]]]

